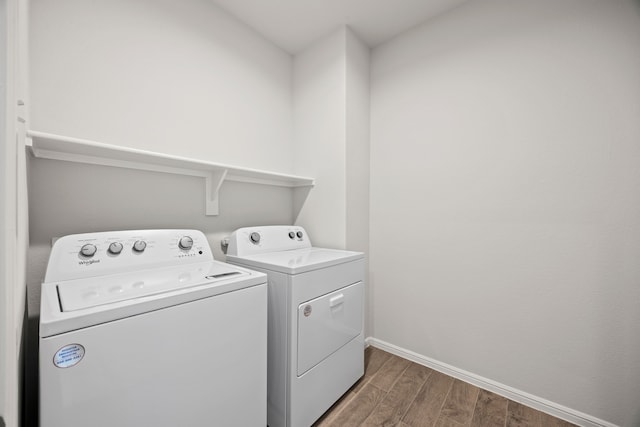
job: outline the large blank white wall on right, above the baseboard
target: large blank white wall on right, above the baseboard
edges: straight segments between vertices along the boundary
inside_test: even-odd
[[[374,49],[373,336],[640,423],[640,5],[469,2]]]

